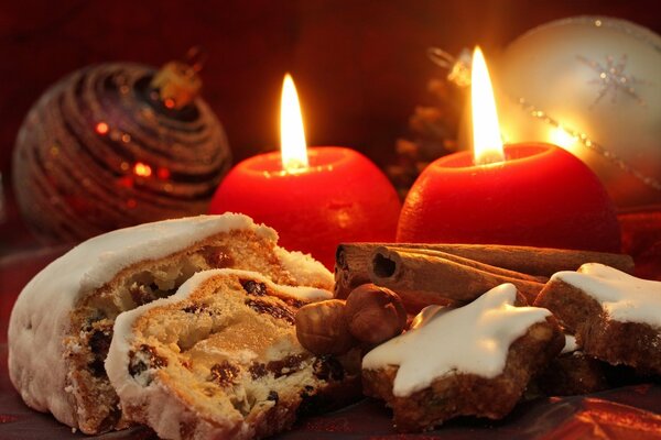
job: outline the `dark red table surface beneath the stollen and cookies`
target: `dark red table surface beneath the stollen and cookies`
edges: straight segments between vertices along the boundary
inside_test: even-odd
[[[25,283],[67,246],[40,249],[0,258],[0,439],[89,438],[72,432],[51,415],[28,408],[9,381],[7,324]],[[364,399],[339,411],[302,420],[274,439],[659,439],[661,385],[640,384],[573,397],[521,403],[497,422],[462,418],[421,435],[398,435],[382,403]],[[99,439],[155,439],[147,428],[97,436]]]

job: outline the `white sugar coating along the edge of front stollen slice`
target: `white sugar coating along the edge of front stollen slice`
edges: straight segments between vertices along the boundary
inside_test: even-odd
[[[113,337],[112,341],[110,342],[108,358],[106,359],[106,372],[108,373],[110,383],[122,400],[130,400],[136,404],[140,402],[147,403],[150,400],[161,402],[161,399],[165,398],[165,392],[160,383],[152,382],[145,386],[144,384],[140,384],[129,374],[129,352],[132,350],[132,330],[136,320],[152,308],[165,306],[167,304],[176,304],[187,298],[209,278],[224,275],[236,275],[242,278],[254,279],[267,284],[274,290],[289,294],[295,298],[323,300],[330,299],[333,297],[330,292],[318,288],[277,285],[270,279],[266,278],[263,275],[250,271],[221,268],[198,272],[197,274],[193,275],[193,277],[188,278],[177,289],[176,294],[167,298],[162,298],[145,304],[133,310],[124,311],[115,320]],[[249,356],[250,354],[247,355]],[[161,413],[153,414],[150,416],[150,420],[156,424],[156,426],[153,426],[153,428],[156,429],[160,435],[165,435],[167,438],[178,438],[180,424],[183,421],[182,413],[183,410],[171,411],[167,417],[164,417]]]

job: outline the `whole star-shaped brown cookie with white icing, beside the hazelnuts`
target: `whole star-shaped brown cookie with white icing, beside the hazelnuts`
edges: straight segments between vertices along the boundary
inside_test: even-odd
[[[400,431],[505,417],[564,345],[551,312],[516,307],[525,304],[518,298],[503,284],[464,307],[424,309],[411,330],[364,358],[364,392],[386,400]]]

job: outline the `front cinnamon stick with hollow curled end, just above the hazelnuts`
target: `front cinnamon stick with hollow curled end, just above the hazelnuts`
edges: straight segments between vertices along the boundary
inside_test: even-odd
[[[397,248],[377,248],[370,258],[372,283],[397,292],[404,302],[470,301],[492,287],[512,283],[532,304],[542,283],[486,272],[473,266]]]

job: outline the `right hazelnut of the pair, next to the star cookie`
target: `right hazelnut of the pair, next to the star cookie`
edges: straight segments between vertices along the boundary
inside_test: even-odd
[[[399,295],[375,284],[351,290],[345,312],[351,334],[370,344],[400,334],[407,326],[407,310]]]

